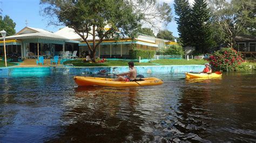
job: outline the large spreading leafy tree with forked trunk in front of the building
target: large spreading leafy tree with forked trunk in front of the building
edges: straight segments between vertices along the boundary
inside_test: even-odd
[[[151,22],[152,17],[147,11],[152,5],[158,8],[152,13],[164,22],[171,21],[170,6],[167,7],[166,3],[157,4],[155,0],[41,0],[41,4],[45,16],[51,18],[50,24],[64,24],[80,35],[93,61],[96,48],[103,39],[136,37],[141,22]],[[143,4],[147,5],[145,9]],[[92,35],[92,45],[89,44],[89,35]]]

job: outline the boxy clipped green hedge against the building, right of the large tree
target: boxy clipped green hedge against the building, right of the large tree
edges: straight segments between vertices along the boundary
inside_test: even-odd
[[[140,49],[131,49],[129,55],[131,59],[152,59],[154,57],[154,51],[144,51]]]

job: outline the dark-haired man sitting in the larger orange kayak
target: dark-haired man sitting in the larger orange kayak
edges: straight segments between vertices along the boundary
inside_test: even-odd
[[[126,72],[126,73],[121,73],[117,75],[117,78],[114,78],[113,81],[125,81],[125,82],[130,82],[135,80],[136,76],[137,76],[137,70],[134,67],[134,63],[132,61],[130,61],[128,63],[130,71]],[[124,77],[124,75],[129,75],[128,77]]]

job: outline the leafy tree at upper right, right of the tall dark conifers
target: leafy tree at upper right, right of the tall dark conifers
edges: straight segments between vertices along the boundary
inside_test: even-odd
[[[238,34],[255,32],[255,1],[208,0],[208,3],[212,10],[212,21],[219,28],[220,35],[223,35],[224,44],[233,47]]]

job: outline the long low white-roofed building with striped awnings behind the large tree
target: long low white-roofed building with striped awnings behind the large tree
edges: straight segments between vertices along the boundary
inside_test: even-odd
[[[92,45],[89,35],[89,44]],[[0,38],[3,40],[3,38]],[[7,54],[18,53],[22,59],[30,55],[52,58],[55,55],[69,51],[77,51],[77,56],[85,58],[90,50],[83,39],[69,27],[64,27],[52,33],[39,28],[24,27],[15,35],[5,38]],[[129,58],[130,49],[158,51],[169,40],[158,39],[145,34],[139,34],[136,39],[125,38],[121,40],[105,39],[96,49],[96,56],[100,58]],[[97,44],[97,37],[96,37]],[[0,41],[0,55],[3,55],[3,41]]]

